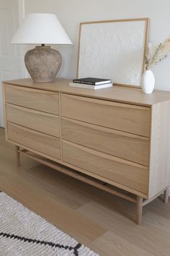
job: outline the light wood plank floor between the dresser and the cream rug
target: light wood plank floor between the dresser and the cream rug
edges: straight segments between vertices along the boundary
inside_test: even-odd
[[[170,203],[156,199],[143,209],[137,226],[135,205],[71,179],[22,156],[0,129],[0,190],[22,202],[100,255],[169,256]]]

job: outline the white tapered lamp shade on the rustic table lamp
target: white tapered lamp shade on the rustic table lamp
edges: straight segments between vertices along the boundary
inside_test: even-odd
[[[48,13],[28,14],[11,43],[72,44],[56,14]]]

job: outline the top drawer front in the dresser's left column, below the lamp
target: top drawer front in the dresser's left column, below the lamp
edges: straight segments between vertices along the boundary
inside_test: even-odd
[[[58,93],[31,88],[22,88],[15,85],[5,85],[6,103],[59,114]]]

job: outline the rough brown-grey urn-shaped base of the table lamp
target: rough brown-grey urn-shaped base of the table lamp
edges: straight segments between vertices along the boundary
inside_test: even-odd
[[[59,51],[50,46],[36,46],[27,51],[24,63],[34,82],[53,82],[61,68],[62,58]]]

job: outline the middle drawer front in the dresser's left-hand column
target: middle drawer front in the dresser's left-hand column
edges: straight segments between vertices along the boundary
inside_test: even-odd
[[[6,119],[14,124],[60,137],[60,119],[53,114],[6,104]]]

